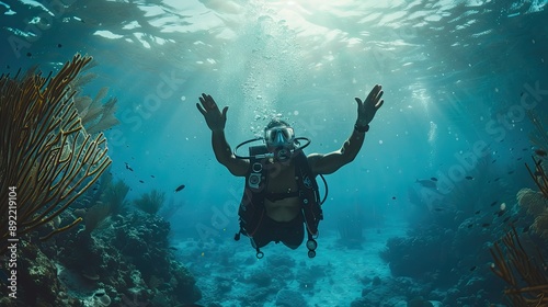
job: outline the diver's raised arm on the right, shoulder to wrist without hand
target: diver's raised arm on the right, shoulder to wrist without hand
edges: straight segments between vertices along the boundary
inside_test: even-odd
[[[350,138],[344,141],[341,149],[321,155],[312,154],[308,156],[308,163],[315,174],[330,174],[335,172],[338,169],[352,162],[362,145],[364,144],[365,133],[354,129]]]

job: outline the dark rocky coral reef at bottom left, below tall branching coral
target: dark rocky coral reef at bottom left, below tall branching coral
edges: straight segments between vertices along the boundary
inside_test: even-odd
[[[82,241],[82,231],[65,231],[41,245],[22,241],[19,261],[33,275],[21,277],[28,284],[9,302],[153,307],[193,304],[202,297],[190,271],[173,258],[170,225],[162,218],[135,211],[113,217],[110,227],[96,228],[88,241]]]

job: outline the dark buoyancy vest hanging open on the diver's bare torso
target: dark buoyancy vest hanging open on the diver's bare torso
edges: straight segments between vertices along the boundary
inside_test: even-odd
[[[264,198],[266,196],[269,172],[275,167],[269,162],[267,158],[255,158],[265,152],[267,152],[266,146],[250,148],[250,168],[246,175],[244,192],[238,209],[240,231],[236,235],[236,240],[239,239],[240,234],[253,239],[266,214]],[[298,185],[298,197],[300,198],[300,211],[308,232],[308,257],[313,258],[317,248],[315,239],[319,234],[318,225],[323,219],[320,193],[316,175],[312,173],[302,150],[294,152],[293,159],[295,160],[295,177]],[[263,252],[256,248],[256,257],[262,258],[263,255]]]

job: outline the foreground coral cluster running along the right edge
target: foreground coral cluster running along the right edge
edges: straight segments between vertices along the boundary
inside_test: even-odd
[[[548,264],[543,253],[548,240],[548,171],[546,166],[548,130],[536,113],[528,111],[535,129],[530,133],[532,144],[537,148],[533,158],[534,168],[525,164],[527,171],[539,189],[522,189],[517,192],[517,203],[522,212],[526,212],[534,221],[530,224],[532,232],[538,235],[527,236],[527,243],[512,225],[512,229],[490,248],[494,260],[491,271],[506,283],[504,294],[511,306],[547,306],[548,305]],[[546,117],[545,117],[546,118]],[[527,226],[525,229],[528,229]],[[524,232],[526,232],[524,229]],[[535,241],[536,239],[540,241]],[[535,257],[528,247],[536,248]]]

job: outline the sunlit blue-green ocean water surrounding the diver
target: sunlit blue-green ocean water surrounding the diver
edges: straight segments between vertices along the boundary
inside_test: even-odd
[[[35,65],[55,72],[76,53],[96,60],[91,70],[96,79],[85,94],[109,87],[109,96],[118,100],[115,115],[121,124],[105,132],[111,172],[130,186],[128,201],[153,189],[167,193],[167,202],[178,208],[167,216],[176,246],[190,249],[189,242],[214,241],[254,257],[247,241],[232,240],[243,180],[215,160],[210,132],[195,106],[201,93],[229,106],[226,135],[232,148],[259,136],[271,118],[282,117],[297,136],[311,138],[307,154],[327,154],[340,149],[353,130],[354,98],[364,99],[375,84],[383,86],[385,104],[361,152],[327,175],[329,195],[320,229],[331,243],[322,248],[320,237],[319,253],[324,255],[313,261],[324,264],[333,260],[321,257],[341,259],[341,252],[352,260],[338,263],[342,268],[334,271],[352,272],[358,270],[354,265],[378,261],[377,253],[364,252],[368,241],[384,246],[392,235],[406,236],[408,227],[443,226],[447,216],[437,219],[438,213],[473,217],[493,202],[496,208],[502,203],[513,206],[517,191],[536,189],[524,163],[530,163],[538,149],[529,139],[535,127],[527,114],[547,114],[547,1],[0,4],[2,72]],[[432,183],[435,194],[427,190]],[[185,189],[174,193],[181,184]],[[321,183],[320,190],[323,193]],[[454,196],[456,191],[460,196]],[[491,218],[484,224],[495,223]],[[367,231],[356,243],[361,248],[336,245],[344,236],[341,227],[349,224]],[[213,275],[233,278],[215,271],[219,259],[204,254],[215,248],[199,249],[181,252],[181,260],[194,265],[198,285],[201,276],[207,278],[207,268],[214,268]],[[487,247],[483,251],[489,258]],[[274,246],[267,253],[310,261],[304,249]],[[488,268],[483,261],[464,265]],[[490,274],[488,269],[481,272]],[[208,296],[206,288],[198,303],[240,306],[237,291],[221,298]],[[256,306],[276,306],[273,293]],[[305,294],[310,306],[350,306],[362,295],[336,297],[318,289]],[[483,298],[503,302],[502,295]]]

